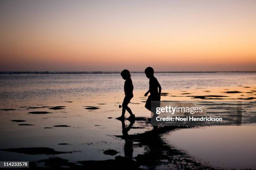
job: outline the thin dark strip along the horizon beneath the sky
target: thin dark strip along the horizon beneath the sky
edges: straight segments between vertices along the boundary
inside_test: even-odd
[[[155,73],[220,73],[220,72],[256,72],[256,71],[158,71]],[[144,73],[142,71],[131,71],[131,73]],[[0,74],[120,74],[118,71],[3,71]]]

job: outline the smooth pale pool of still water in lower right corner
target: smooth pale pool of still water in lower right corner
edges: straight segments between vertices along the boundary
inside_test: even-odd
[[[165,140],[211,167],[256,169],[255,125],[177,130]]]

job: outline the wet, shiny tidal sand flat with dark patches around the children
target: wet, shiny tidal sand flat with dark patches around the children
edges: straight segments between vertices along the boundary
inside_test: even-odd
[[[255,105],[254,89],[250,85],[164,90],[161,100],[200,100],[205,104],[211,100],[249,100]],[[29,160],[30,168],[219,169],[166,139],[169,133],[196,127],[154,129],[149,121],[151,114],[144,108],[143,93],[135,91],[129,104],[135,122],[115,119],[121,114],[122,93],[1,106],[0,158]]]

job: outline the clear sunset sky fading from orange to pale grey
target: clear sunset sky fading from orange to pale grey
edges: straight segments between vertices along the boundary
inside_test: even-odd
[[[256,0],[1,0],[0,71],[256,71]]]

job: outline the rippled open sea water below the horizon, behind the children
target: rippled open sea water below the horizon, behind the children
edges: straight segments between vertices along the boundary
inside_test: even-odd
[[[156,73],[155,76],[164,91],[238,87],[255,85],[256,82],[254,72]],[[145,74],[133,73],[132,80],[135,91],[147,90],[148,78]],[[60,97],[64,100],[98,97],[108,92],[123,92],[123,83],[119,74],[0,74],[0,99],[3,102],[31,99],[41,102],[50,98],[59,102]]]

